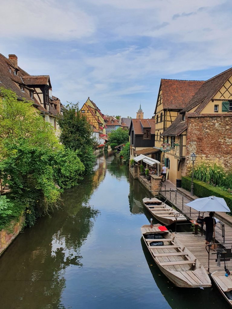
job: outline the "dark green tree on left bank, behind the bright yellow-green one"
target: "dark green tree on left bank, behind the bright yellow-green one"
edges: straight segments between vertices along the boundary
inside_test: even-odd
[[[93,155],[95,139],[87,117],[80,112],[78,103],[66,106],[63,116],[58,119],[58,124],[62,144],[76,151],[85,166],[86,173],[92,171],[96,162],[96,157]]]

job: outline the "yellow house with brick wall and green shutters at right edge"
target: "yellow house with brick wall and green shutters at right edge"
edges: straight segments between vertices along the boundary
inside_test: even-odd
[[[188,175],[191,153],[232,168],[232,68],[205,81],[162,133],[171,144],[165,159],[169,179]]]

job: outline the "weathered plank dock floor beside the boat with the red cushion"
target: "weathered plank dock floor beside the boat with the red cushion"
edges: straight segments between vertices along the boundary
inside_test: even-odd
[[[183,243],[185,247],[188,248],[192,254],[203,264],[204,268],[208,272],[208,252],[205,249],[205,239],[204,235],[195,235],[191,232],[185,233],[176,233],[176,237]],[[217,254],[213,250],[210,250],[210,261],[209,261],[209,273],[213,273],[214,271],[224,271],[224,261],[221,261],[221,267],[217,266],[217,262],[215,261],[217,258]],[[227,261],[227,267],[229,270],[232,270],[232,258],[230,261]]]

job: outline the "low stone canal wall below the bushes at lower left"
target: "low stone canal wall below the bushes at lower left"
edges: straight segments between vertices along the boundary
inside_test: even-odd
[[[9,231],[2,230],[0,231],[0,255],[6,248],[11,244],[11,242],[15,239],[17,235],[19,235],[20,231],[22,230],[25,222],[25,217],[22,216],[19,219],[19,222],[12,221]]]

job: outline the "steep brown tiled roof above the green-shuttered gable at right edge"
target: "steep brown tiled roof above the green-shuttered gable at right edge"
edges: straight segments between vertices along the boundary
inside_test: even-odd
[[[199,113],[213,98],[213,96],[220,90],[220,88],[226,83],[227,79],[232,75],[232,68],[208,79],[195,93],[195,95],[189,100],[189,103],[181,113],[188,112],[198,104],[200,104],[195,112]]]

